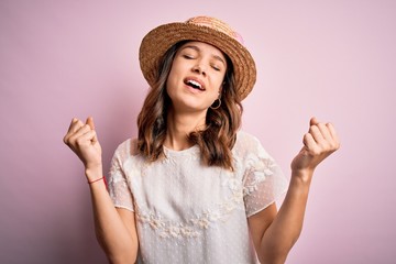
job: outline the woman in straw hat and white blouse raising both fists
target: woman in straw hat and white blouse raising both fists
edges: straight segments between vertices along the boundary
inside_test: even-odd
[[[94,121],[73,119],[64,142],[85,165],[97,238],[111,263],[285,262],[314,170],[339,140],[330,123],[312,118],[287,187],[260,142],[239,130],[241,100],[256,77],[241,43],[208,16],[161,25],[143,38],[151,90],[138,139],[114,153],[109,193]]]

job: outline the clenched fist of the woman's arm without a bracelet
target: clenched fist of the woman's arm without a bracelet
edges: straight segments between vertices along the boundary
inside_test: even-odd
[[[340,147],[339,138],[331,123],[321,123],[311,118],[309,124],[309,131],[304,135],[304,146],[292,162],[292,170],[297,173],[296,175],[304,172],[311,175],[319,163]]]

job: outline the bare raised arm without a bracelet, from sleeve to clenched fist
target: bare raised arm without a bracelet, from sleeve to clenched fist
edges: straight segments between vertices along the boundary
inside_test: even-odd
[[[340,147],[331,123],[310,120],[304,146],[292,162],[290,184],[276,212],[275,205],[249,218],[253,242],[261,263],[284,263],[302,229],[308,193],[315,168]]]

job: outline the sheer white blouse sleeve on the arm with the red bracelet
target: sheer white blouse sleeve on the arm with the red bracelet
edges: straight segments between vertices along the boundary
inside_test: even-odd
[[[131,141],[125,141],[114,152],[109,172],[109,194],[114,206],[134,211],[132,191],[123,169],[123,164],[130,156]]]

